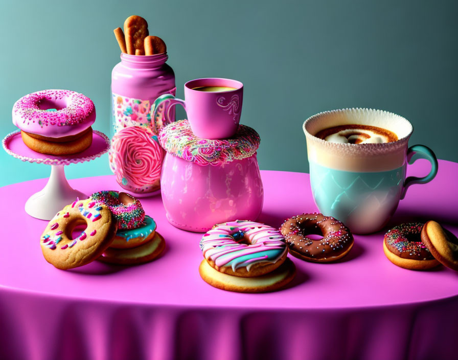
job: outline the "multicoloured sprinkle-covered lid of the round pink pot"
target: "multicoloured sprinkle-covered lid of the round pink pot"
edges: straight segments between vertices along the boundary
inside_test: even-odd
[[[254,129],[241,124],[231,139],[197,138],[188,120],[171,123],[159,134],[159,143],[168,153],[201,166],[249,158],[258,150],[260,141]]]

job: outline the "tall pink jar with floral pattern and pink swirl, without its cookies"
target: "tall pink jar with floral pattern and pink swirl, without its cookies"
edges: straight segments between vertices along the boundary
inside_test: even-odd
[[[161,104],[155,119],[154,100],[164,94],[175,95],[175,74],[166,64],[167,54],[121,54],[121,62],[111,73],[110,168],[117,182],[133,193],[159,189],[164,151],[157,141],[167,102]],[[175,120],[174,108],[169,111]],[[129,130],[125,130],[131,128]]]

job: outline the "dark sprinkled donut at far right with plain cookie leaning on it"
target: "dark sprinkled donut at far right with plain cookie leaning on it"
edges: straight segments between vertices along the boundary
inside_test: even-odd
[[[383,238],[383,252],[393,264],[410,270],[426,270],[439,265],[422,241],[423,222],[407,222],[394,227]]]

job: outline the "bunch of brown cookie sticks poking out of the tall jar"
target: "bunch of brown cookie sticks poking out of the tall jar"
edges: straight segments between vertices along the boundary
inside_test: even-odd
[[[121,52],[129,55],[156,55],[167,52],[166,43],[158,36],[149,36],[148,22],[141,16],[132,15],[121,28],[113,30]]]

